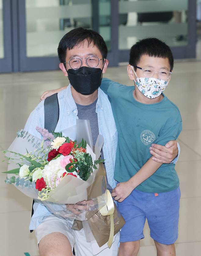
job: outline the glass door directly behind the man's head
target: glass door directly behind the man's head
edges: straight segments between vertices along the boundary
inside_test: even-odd
[[[77,27],[100,32],[109,48],[110,66],[114,62],[117,65],[117,58],[112,58],[115,48],[111,47],[114,38],[111,33],[112,2],[114,1],[19,1],[20,71],[58,69],[59,41],[67,32]]]

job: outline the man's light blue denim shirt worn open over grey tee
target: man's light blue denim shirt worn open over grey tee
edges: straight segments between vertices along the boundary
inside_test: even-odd
[[[70,86],[58,93],[58,100],[59,121],[55,131],[59,132],[76,124],[78,111],[71,94]],[[104,137],[103,153],[108,183],[114,188],[116,186],[116,181],[113,177],[117,147],[117,130],[108,96],[100,88],[98,89],[96,113],[98,117],[99,134],[102,134]],[[35,129],[36,126],[44,128],[44,100],[31,112],[24,127],[24,130],[42,139],[41,134]],[[42,202],[35,202],[34,214],[31,218],[29,229],[35,230],[37,226],[41,224],[42,219],[50,214],[48,209],[42,205]]]

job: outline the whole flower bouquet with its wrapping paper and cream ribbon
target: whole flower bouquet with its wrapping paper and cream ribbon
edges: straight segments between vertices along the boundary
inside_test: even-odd
[[[5,182],[45,205],[55,215],[78,222],[89,221],[92,237],[98,245],[108,241],[111,246],[114,234],[124,221],[114,208],[107,190],[103,160],[99,160],[103,136],[98,136],[93,150],[88,120],[77,120],[76,126],[61,132],[36,129],[43,140],[20,130],[9,149],[4,150],[9,160]],[[72,211],[78,202],[84,202],[85,209]],[[92,223],[96,223],[95,226]]]

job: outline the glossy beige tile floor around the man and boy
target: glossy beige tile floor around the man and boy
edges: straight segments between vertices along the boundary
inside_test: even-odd
[[[201,62],[176,62],[166,96],[181,111],[183,131],[179,137],[181,155],[176,165],[181,182],[181,209],[179,237],[176,243],[178,256],[201,255]],[[108,68],[107,77],[123,84],[133,85],[126,66]],[[64,86],[68,78],[61,71],[15,73],[0,75],[0,148],[7,149],[23,128],[29,113],[39,102],[43,91]],[[2,154],[1,154],[2,159]],[[0,162],[1,171],[6,163]],[[31,203],[12,185],[5,185],[6,175],[0,174],[0,255],[21,256],[28,252],[38,255],[34,233],[28,230]],[[156,255],[149,228],[144,228],[139,256]],[[28,255],[28,254],[27,254]]]

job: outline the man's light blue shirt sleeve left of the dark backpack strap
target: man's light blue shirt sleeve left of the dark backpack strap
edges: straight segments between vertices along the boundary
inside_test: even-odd
[[[44,128],[44,100],[31,112],[24,126],[24,130],[42,139],[41,134],[36,130],[36,126]]]

